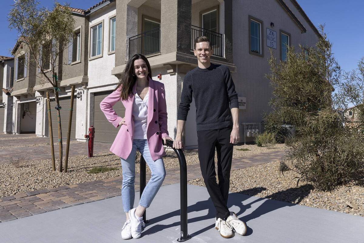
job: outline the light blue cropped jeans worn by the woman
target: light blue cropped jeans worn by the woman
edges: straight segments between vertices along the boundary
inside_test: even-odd
[[[123,170],[123,185],[121,188],[121,199],[123,201],[124,212],[128,212],[134,207],[134,181],[135,181],[135,154],[137,150],[144,157],[151,171],[151,178],[144,188],[139,205],[149,207],[161,187],[166,177],[166,169],[164,168],[163,159],[152,160],[149,152],[148,142],[146,139],[134,139],[131,152],[127,160],[121,160]]]

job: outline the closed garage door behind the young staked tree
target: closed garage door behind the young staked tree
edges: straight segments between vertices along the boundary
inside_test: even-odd
[[[71,97],[59,98],[59,105],[62,107],[60,110],[61,125],[62,125],[62,138],[67,139],[68,131],[68,117],[70,115],[70,103]],[[76,138],[76,103],[77,99],[73,101],[73,113],[72,113],[72,126],[71,126],[71,139]],[[52,99],[51,110],[52,110],[52,131],[53,137],[58,138],[58,120],[57,111],[54,109],[56,102]]]

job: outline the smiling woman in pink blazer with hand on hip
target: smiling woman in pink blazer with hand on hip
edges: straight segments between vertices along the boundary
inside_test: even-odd
[[[120,101],[125,117],[116,115],[112,106]],[[162,140],[171,140],[167,131],[167,107],[164,85],[152,79],[150,64],[140,54],[132,56],[126,64],[115,91],[100,103],[101,110],[115,127],[121,126],[110,151],[120,157],[123,169],[122,201],[126,222],[122,238],[140,238],[143,213],[149,207],[166,176],[162,157]],[[144,157],[151,170],[137,208],[134,204],[135,153]]]

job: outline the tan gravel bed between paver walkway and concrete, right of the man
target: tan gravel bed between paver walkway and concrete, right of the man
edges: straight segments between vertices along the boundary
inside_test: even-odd
[[[359,185],[341,186],[331,192],[314,189],[305,181],[297,185],[294,172],[278,171],[279,161],[232,171],[230,192],[286,201],[309,207],[322,208],[353,215],[364,216],[364,187]],[[205,186],[202,178],[188,182]],[[359,209],[347,207],[347,201],[354,201]]]

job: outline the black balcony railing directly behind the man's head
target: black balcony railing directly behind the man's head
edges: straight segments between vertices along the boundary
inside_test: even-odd
[[[213,48],[213,55],[222,57],[222,34],[198,26],[191,26],[191,50],[194,49],[195,39],[198,36],[209,38]]]

